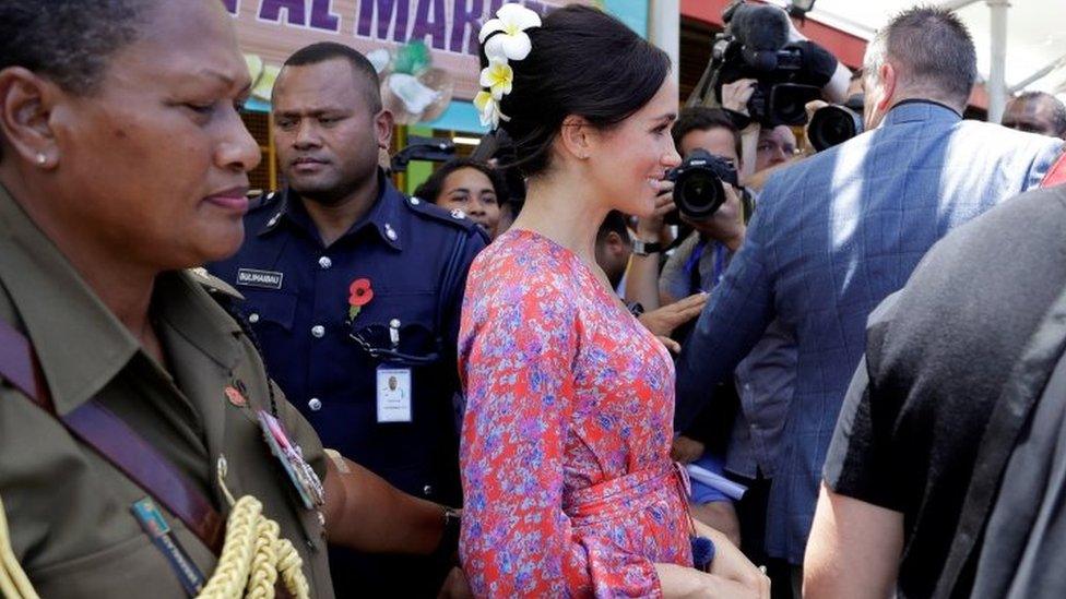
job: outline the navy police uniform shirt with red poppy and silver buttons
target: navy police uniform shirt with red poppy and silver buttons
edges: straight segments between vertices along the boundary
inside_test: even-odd
[[[367,215],[329,247],[295,192],[266,194],[245,217],[240,251],[209,269],[245,296],[270,376],[325,447],[458,505],[455,339],[466,272],[487,238],[380,171],[378,185]],[[350,321],[350,286],[364,278],[374,296]],[[411,368],[411,422],[378,422],[382,366]]]

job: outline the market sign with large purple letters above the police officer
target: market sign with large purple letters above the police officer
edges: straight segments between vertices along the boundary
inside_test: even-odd
[[[366,53],[422,40],[455,81],[454,97],[477,93],[477,29],[505,0],[223,0],[244,52],[281,64],[307,44],[332,40]],[[546,14],[595,0],[522,0]]]

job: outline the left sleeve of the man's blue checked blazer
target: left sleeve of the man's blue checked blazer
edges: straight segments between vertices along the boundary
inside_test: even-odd
[[[686,431],[700,409],[711,400],[715,384],[725,380],[736,364],[762,337],[774,318],[773,293],[766,267],[766,239],[770,228],[766,201],[755,213],[741,250],[725,276],[711,293],[677,362],[677,404],[674,430]]]

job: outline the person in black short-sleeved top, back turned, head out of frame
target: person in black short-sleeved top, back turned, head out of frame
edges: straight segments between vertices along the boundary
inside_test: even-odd
[[[1066,592],[1045,578],[1066,575],[1038,570],[1049,531],[1066,526],[1046,517],[1063,416],[1032,418],[1066,347],[1064,256],[1066,187],[1030,192],[937,243],[870,315],[826,462],[805,596]]]

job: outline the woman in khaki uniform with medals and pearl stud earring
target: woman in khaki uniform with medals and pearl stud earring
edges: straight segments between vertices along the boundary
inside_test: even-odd
[[[229,511],[223,458],[312,597],[333,595],[327,531],[366,551],[448,537],[441,506],[325,457],[228,291],[186,271],[241,242],[249,84],[218,0],[0,0],[0,498],[43,597],[194,595],[217,561],[210,513]]]

